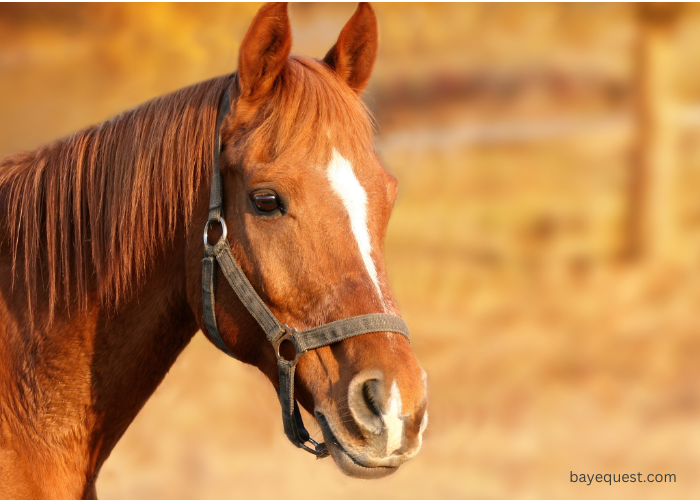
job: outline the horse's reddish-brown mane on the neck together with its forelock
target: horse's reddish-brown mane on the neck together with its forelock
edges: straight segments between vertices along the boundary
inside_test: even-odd
[[[191,219],[211,168],[219,101],[232,83],[236,74],[178,90],[0,162],[13,286],[21,262],[30,318],[37,274],[49,321],[61,303],[86,307],[92,281],[103,303],[116,307],[128,296]],[[324,63],[292,57],[275,85],[247,138],[271,157],[292,147],[330,150],[331,141],[354,151],[373,144],[369,111]]]

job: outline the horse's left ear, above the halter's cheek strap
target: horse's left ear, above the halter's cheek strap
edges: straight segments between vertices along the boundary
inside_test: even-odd
[[[263,5],[241,43],[238,80],[241,97],[259,98],[270,91],[292,48],[287,2]]]

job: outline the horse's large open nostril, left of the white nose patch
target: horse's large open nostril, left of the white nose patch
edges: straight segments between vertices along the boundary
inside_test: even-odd
[[[360,429],[372,434],[381,434],[384,429],[382,392],[381,374],[374,370],[356,375],[348,388],[350,413]]]

